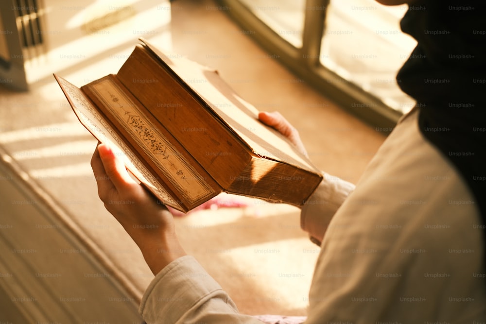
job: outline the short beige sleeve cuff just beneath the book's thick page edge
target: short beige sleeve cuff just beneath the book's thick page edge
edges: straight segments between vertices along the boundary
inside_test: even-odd
[[[330,220],[354,188],[353,184],[324,173],[324,179],[300,213],[300,227],[314,243],[321,244]]]

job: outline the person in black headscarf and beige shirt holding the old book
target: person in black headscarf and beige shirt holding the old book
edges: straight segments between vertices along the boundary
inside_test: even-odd
[[[484,323],[485,5],[379,2],[409,2],[401,26],[418,45],[397,79],[417,105],[356,186],[325,174],[301,206],[301,226],[321,246],[306,323]],[[259,118],[305,150],[280,114]],[[148,323],[261,323],[185,254],[171,213],[109,147],[91,165],[100,198],[156,275],[140,305]],[[121,200],[134,204],[108,203]],[[135,226],[147,223],[156,226]]]

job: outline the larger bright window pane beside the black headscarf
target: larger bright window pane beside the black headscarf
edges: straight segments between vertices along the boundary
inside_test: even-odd
[[[417,42],[400,31],[407,5],[383,6],[374,0],[331,0],[320,61],[400,112],[414,101],[395,80]]]

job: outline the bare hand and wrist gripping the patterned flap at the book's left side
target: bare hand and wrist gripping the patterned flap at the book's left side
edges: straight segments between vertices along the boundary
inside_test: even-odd
[[[108,146],[99,143],[91,168],[104,206],[137,243],[154,274],[185,255],[175,235],[172,214],[132,179]]]

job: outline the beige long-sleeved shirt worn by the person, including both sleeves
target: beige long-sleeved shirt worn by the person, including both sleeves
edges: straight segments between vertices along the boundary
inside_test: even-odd
[[[420,134],[417,111],[356,188],[326,175],[301,226],[322,240],[306,323],[486,321],[483,224],[464,181]],[[147,323],[260,323],[191,256],[156,275],[140,313]]]

